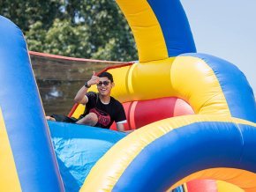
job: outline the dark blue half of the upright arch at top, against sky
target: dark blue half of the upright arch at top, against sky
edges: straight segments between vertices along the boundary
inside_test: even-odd
[[[191,28],[179,0],[147,0],[160,26],[168,55],[196,52]]]

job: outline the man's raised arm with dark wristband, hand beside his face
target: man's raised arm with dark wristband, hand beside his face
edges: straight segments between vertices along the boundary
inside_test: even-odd
[[[93,73],[93,76],[90,80],[88,80],[84,86],[82,86],[79,89],[79,92],[77,92],[76,97],[74,98],[74,101],[76,103],[80,104],[87,104],[88,98],[86,96],[88,89],[90,88],[91,85],[96,85],[99,83],[99,77],[95,75],[95,72]]]

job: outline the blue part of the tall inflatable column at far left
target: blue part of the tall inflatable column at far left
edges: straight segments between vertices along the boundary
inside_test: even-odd
[[[26,42],[19,28],[1,16],[0,58],[0,106],[21,188],[63,190]]]

